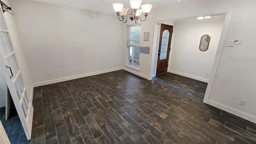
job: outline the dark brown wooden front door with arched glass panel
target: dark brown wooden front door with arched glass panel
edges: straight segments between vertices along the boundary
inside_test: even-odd
[[[173,26],[161,24],[156,75],[167,72],[171,50],[172,28]]]

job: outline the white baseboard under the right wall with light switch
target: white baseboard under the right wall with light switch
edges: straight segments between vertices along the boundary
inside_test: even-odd
[[[237,109],[235,109],[235,108],[231,108],[230,106],[226,106],[226,105],[224,105],[224,104],[221,104],[221,103],[219,103],[219,102],[215,102],[215,101],[213,101],[213,100],[208,100],[208,103],[207,103],[207,104],[209,104],[209,105],[211,105],[211,106],[214,106],[214,107],[216,107],[216,108],[219,108],[219,109],[221,109],[221,110],[224,110],[224,111],[226,111],[226,112],[229,112],[230,114],[234,114],[234,115],[236,115],[236,116],[239,116],[239,117],[241,117],[241,118],[244,118],[244,119],[246,119],[246,120],[249,120],[250,122],[256,123],[256,116],[253,116],[253,115],[251,115],[251,114],[247,114],[247,113],[245,113],[245,112],[242,112],[242,111],[237,110]]]

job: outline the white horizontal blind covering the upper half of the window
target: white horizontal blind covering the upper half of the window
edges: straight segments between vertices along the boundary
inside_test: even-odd
[[[140,45],[140,24],[127,25],[126,27],[126,45]]]

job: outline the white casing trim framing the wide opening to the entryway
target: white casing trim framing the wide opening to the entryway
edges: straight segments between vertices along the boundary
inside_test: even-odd
[[[161,21],[182,20],[182,19],[186,19],[186,18],[196,18],[197,16],[200,16],[200,15],[222,15],[222,14],[226,15],[225,20],[224,20],[224,24],[223,24],[223,28],[222,28],[222,32],[221,32],[221,35],[220,35],[220,41],[219,41],[219,44],[218,44],[218,48],[217,48],[217,52],[216,52],[216,55],[215,55],[214,63],[213,63],[213,66],[212,66],[212,72],[210,74],[209,83],[207,85],[206,92],[205,92],[205,95],[204,95],[204,103],[206,103],[206,104],[208,103],[210,93],[212,91],[214,78],[216,76],[217,68],[218,68],[218,65],[219,65],[219,62],[220,62],[220,57],[221,57],[221,54],[222,54],[222,50],[224,48],[226,36],[228,34],[228,28],[230,26],[230,22],[231,22],[231,18],[232,18],[232,15],[233,15],[234,8],[235,7],[153,19],[152,28],[155,28],[156,24],[158,22],[161,22]],[[156,31],[154,29],[152,30],[152,33],[154,34],[153,36],[156,36]],[[154,49],[155,42],[156,42],[155,37],[153,37],[152,51]],[[150,69],[148,70],[150,72],[150,74],[148,76],[148,80],[152,80],[153,60],[154,60],[154,54],[152,54],[152,56],[151,56]]]

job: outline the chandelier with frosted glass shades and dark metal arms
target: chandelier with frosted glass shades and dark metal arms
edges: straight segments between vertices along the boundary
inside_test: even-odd
[[[141,0],[130,0],[132,9],[123,8],[124,4],[121,4],[121,3],[114,3],[113,8],[116,11],[118,19],[123,21],[124,23],[127,22],[127,17],[128,17],[127,14],[130,11],[130,14],[129,14],[130,20],[134,20],[135,23],[137,24],[139,18],[140,18],[140,21],[142,21],[142,22],[144,22],[146,20],[148,13],[150,12],[151,7],[152,7],[151,4],[142,4],[141,9],[139,9],[141,3],[142,3]],[[144,13],[145,20],[141,20],[140,15],[142,12]],[[122,19],[120,19],[120,16]]]

